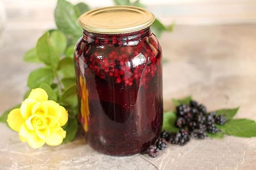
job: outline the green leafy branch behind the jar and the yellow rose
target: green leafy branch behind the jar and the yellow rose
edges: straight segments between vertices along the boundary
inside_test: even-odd
[[[116,5],[131,5],[144,7],[137,0],[114,0]],[[69,120],[64,130],[67,137],[64,143],[73,141],[78,130],[78,101],[76,96],[76,74],[73,65],[73,54],[76,41],[81,37],[82,28],[78,25],[78,17],[90,10],[85,3],[72,5],[66,0],[58,0],[54,11],[57,29],[46,31],[37,41],[34,48],[26,52],[23,57],[25,62],[44,64],[29,74],[27,79],[28,91],[24,94],[27,98],[33,88],[43,88],[47,91],[49,99],[63,105],[69,113]],[[160,36],[169,29],[156,20],[152,29]],[[20,107],[16,105],[15,108]],[[0,116],[0,122],[6,122],[10,110]]]

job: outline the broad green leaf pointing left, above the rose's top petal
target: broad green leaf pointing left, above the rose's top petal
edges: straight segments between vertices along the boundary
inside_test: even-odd
[[[38,88],[42,83],[51,85],[54,79],[54,74],[49,68],[38,68],[29,74],[29,88]]]

